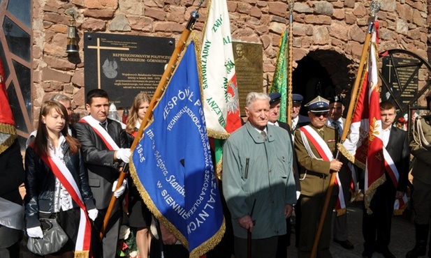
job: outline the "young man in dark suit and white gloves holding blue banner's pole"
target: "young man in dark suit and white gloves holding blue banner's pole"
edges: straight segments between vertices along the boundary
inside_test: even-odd
[[[75,124],[75,130],[80,140],[82,157],[88,171],[89,185],[92,188],[98,209],[96,227],[100,229],[112,197],[112,191],[117,185],[119,163],[129,162],[131,153],[130,149],[126,149],[126,135],[120,123],[107,118],[108,93],[102,89],[89,91],[85,107],[89,115]],[[114,192],[117,198],[124,193],[126,188],[126,181],[121,183],[122,186]],[[102,246],[98,247],[101,248],[101,251],[99,249],[100,257],[115,258],[121,214],[120,202],[117,202],[112,211],[108,228],[105,229]]]

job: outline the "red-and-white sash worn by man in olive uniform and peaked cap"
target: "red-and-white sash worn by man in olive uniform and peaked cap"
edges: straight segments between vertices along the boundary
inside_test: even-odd
[[[307,153],[310,157],[321,159],[325,161],[331,161],[334,159],[332,151],[330,151],[328,145],[325,140],[316,132],[311,126],[302,126],[300,128],[300,133],[302,137],[302,142],[304,142],[305,149],[307,149]],[[310,148],[308,141],[312,143],[314,148],[316,148],[317,153],[319,153],[321,158],[316,157],[314,155],[312,149]],[[341,185],[341,181],[339,181],[338,173],[335,179],[335,185],[338,185],[338,198],[337,203],[335,204],[335,209],[337,210],[337,215],[342,215],[346,211],[346,202],[344,200],[343,189]]]

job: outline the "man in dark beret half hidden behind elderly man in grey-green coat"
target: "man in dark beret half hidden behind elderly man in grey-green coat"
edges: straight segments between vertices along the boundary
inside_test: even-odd
[[[280,100],[282,98],[282,95],[278,92],[269,93],[270,96],[270,115],[268,116],[268,125],[274,125],[279,126],[286,130],[289,135],[289,139],[291,139],[290,144],[292,144],[293,149],[293,139],[291,137],[292,130],[291,127],[288,126],[287,123],[284,123],[282,121],[278,121],[279,114],[280,114]],[[296,192],[297,196],[298,193],[301,190],[300,182],[299,182],[299,175],[298,175],[298,165],[296,162],[296,155],[295,152],[293,152],[293,176],[295,176],[295,186],[296,186]],[[298,222],[298,220],[297,220]],[[287,247],[291,245],[291,218],[286,218],[286,232],[287,234],[283,236],[279,236],[278,238],[278,245],[277,245],[277,258],[286,258],[287,257]]]

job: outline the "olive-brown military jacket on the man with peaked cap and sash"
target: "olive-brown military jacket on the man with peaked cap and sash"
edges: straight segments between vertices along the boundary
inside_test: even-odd
[[[317,128],[309,126],[319,131]],[[330,126],[323,126],[323,140],[328,144],[332,153],[335,152],[337,141],[335,139],[335,129]],[[316,157],[320,157],[315,146],[310,142],[309,146]],[[300,167],[300,183],[301,195],[316,196],[326,195],[330,181],[330,162],[311,158],[305,149],[304,142],[300,135],[300,130],[295,130],[295,152],[298,158],[298,165]],[[337,195],[337,191],[333,191],[333,195]]]

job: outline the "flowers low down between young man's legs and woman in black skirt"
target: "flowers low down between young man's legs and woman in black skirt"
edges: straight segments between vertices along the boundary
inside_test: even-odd
[[[140,258],[135,232],[129,226],[122,225],[119,229],[117,257]]]

